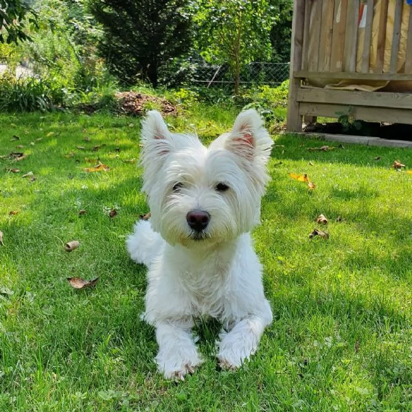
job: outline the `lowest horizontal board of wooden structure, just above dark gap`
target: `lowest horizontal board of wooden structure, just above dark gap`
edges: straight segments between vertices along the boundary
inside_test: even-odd
[[[412,124],[412,111],[401,108],[378,108],[365,106],[350,106],[345,104],[304,103],[299,105],[302,116],[340,117],[342,113],[350,114],[355,119],[366,122],[391,122]]]

